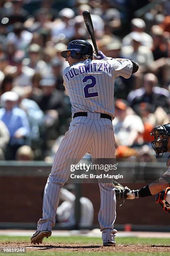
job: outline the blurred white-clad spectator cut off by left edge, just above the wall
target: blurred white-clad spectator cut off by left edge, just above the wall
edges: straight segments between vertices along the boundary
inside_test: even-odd
[[[5,160],[7,144],[10,140],[10,133],[5,123],[0,120],[0,160]]]

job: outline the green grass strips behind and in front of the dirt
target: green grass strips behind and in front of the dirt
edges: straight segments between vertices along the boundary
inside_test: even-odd
[[[0,243],[29,243],[30,242],[30,237],[20,237],[20,236],[0,236]],[[170,246],[170,239],[169,238],[135,238],[135,237],[128,237],[128,238],[116,238],[117,245],[119,244],[124,244],[124,245],[155,245],[155,246]],[[50,238],[44,238],[44,243],[67,243],[68,246],[69,244],[83,244],[83,245],[99,245],[101,244],[101,238],[89,238],[89,237],[83,237],[83,236],[72,236],[72,237],[50,237]],[[43,243],[42,243],[43,245]],[[41,245],[41,246],[42,246]],[[9,243],[10,247],[10,243]],[[17,247],[17,244],[16,244]],[[170,249],[170,247],[169,247]],[[115,249],[114,249],[115,251]],[[105,256],[105,255],[114,255],[114,256],[133,256],[133,255],[139,255],[139,256],[144,256],[144,255],[170,255],[170,252],[88,252],[88,251],[27,251],[26,253],[0,253],[0,255],[4,256],[5,254],[7,255],[17,255],[17,256],[55,256],[55,255],[61,255],[61,256],[72,256],[72,255],[81,255],[81,256],[87,256],[87,255],[97,255],[97,256]]]

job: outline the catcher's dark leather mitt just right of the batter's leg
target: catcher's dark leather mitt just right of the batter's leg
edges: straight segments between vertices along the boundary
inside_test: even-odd
[[[122,184],[120,184],[117,181],[113,181],[113,185],[115,185],[115,195],[116,195],[116,200],[122,201],[120,206],[124,204],[125,200],[127,199],[127,193],[130,192],[130,188],[128,187],[123,187]]]

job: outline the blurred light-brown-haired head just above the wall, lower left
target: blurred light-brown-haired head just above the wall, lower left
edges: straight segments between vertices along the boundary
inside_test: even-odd
[[[25,145],[18,148],[16,152],[16,160],[17,161],[33,161],[34,152],[30,148],[30,146]]]

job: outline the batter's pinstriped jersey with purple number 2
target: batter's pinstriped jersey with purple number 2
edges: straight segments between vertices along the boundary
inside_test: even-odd
[[[114,118],[115,78],[129,78],[133,64],[105,58],[102,60],[79,61],[63,72],[67,95],[72,105],[72,115],[77,112],[104,113]]]

